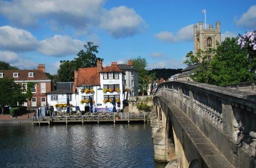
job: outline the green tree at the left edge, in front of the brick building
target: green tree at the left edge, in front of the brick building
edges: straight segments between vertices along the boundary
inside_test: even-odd
[[[2,107],[2,115],[4,114],[4,107],[13,101],[13,83],[13,79],[0,78],[0,106]]]

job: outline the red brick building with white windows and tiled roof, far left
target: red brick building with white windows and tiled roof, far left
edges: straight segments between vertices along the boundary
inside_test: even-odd
[[[45,64],[39,64],[37,69],[0,70],[0,78],[13,78],[14,82],[22,84],[24,91],[27,89],[28,82],[35,82],[32,100],[24,104],[30,107],[29,109],[35,109],[46,105],[46,93],[52,90],[51,80],[46,76],[45,70]]]

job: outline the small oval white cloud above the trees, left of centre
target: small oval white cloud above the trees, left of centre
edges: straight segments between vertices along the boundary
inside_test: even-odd
[[[54,35],[40,41],[38,52],[54,56],[63,57],[67,55],[77,54],[83,49],[84,41],[72,39],[70,36]]]

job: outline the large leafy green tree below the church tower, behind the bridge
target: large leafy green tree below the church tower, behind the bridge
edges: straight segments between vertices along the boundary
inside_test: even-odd
[[[246,49],[241,49],[237,39],[226,38],[216,51],[197,53],[203,58],[190,77],[196,82],[219,86],[252,81],[254,72],[249,69],[254,62],[249,61]],[[198,63],[193,57],[190,61]]]

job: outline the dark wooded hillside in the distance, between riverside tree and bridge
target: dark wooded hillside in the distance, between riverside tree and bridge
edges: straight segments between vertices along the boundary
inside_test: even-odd
[[[155,76],[157,79],[163,78],[164,80],[167,80],[172,75],[180,74],[181,70],[182,70],[181,68],[179,69],[157,68],[157,69],[148,70],[148,73],[149,74],[155,73]]]

